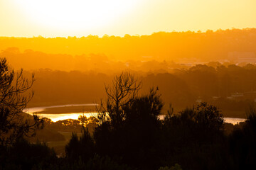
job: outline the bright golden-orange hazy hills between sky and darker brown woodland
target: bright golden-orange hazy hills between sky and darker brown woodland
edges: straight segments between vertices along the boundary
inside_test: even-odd
[[[96,35],[76,38],[0,38],[0,50],[18,47],[23,54],[22,63],[35,64],[41,68],[48,63],[50,69],[82,69],[92,67],[87,59],[98,62],[122,61],[174,61],[188,62],[250,62],[255,58],[256,29],[208,30],[206,33],[159,32],[152,35],[130,36],[123,38]],[[13,49],[14,50],[14,49]],[[17,50],[14,50],[17,52]],[[4,55],[8,55],[6,50]],[[52,55],[49,55],[52,54]],[[62,54],[62,55],[60,55]],[[92,55],[95,54],[95,55]],[[19,57],[18,55],[17,57]],[[15,57],[15,56],[14,56]],[[36,57],[34,59],[33,57]],[[85,60],[86,59],[86,60]],[[110,60],[110,61],[108,61]],[[9,60],[11,62],[11,60]],[[38,62],[41,61],[41,62]],[[17,60],[18,62],[18,60]],[[93,62],[93,61],[92,61]],[[66,67],[53,67],[65,64]],[[67,65],[68,64],[68,65]],[[75,65],[74,65],[75,64]],[[33,68],[33,67],[29,67]]]

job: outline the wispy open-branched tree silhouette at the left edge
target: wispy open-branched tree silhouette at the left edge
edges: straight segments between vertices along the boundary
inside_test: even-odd
[[[5,58],[0,59],[0,143],[13,144],[23,135],[35,135],[35,130],[43,128],[43,120],[33,115],[25,116],[24,108],[33,96],[28,93],[35,81],[23,77],[22,69],[15,73]]]

